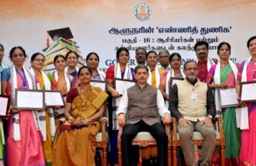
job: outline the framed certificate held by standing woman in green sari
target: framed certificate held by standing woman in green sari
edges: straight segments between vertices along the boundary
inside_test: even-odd
[[[230,87],[228,89],[218,89],[219,95],[219,107],[237,107],[237,90],[235,87]]]

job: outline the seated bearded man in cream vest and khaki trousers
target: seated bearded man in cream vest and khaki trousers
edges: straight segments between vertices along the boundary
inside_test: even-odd
[[[214,96],[210,86],[197,78],[195,61],[185,62],[183,70],[185,80],[174,84],[170,91],[169,110],[179,121],[177,129],[186,165],[197,165],[192,144],[193,131],[199,131],[204,138],[201,165],[211,165],[216,139],[212,124],[216,113]]]

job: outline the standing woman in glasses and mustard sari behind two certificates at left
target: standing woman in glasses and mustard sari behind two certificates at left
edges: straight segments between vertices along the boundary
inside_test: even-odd
[[[35,53],[32,55],[30,64],[30,72],[35,75],[38,80],[37,89],[51,90],[51,75],[46,75],[42,68],[44,67],[44,55]],[[55,121],[53,118],[53,109],[46,109],[39,112],[40,124],[42,127],[41,133],[43,136],[43,147],[46,164],[51,165],[53,161],[53,144],[52,138],[55,136]]]

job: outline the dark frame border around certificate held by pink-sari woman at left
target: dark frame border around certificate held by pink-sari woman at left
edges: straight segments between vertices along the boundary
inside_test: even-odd
[[[37,92],[37,93],[42,93],[42,107],[19,107],[18,106],[18,92],[22,91],[22,92],[27,92],[27,93],[33,93],[33,92]],[[44,91],[42,90],[37,90],[37,89],[15,89],[15,107],[17,107],[18,109],[28,109],[28,110],[44,110],[45,109],[45,98],[44,98]]]

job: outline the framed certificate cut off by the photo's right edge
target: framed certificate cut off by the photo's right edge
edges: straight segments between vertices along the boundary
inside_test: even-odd
[[[242,102],[256,102],[256,82],[241,82],[240,98]]]

